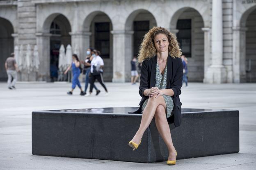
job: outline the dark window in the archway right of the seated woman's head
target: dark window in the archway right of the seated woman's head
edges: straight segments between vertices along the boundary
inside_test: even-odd
[[[178,20],[177,39],[180,43],[182,54],[191,57],[191,19]]]

